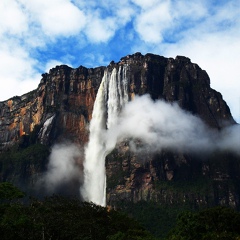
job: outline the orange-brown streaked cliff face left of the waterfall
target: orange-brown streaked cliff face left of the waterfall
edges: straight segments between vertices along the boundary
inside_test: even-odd
[[[1,149],[40,126],[43,144],[61,139],[85,143],[87,124],[103,76],[103,68],[57,66],[43,74],[38,88],[0,103]]]

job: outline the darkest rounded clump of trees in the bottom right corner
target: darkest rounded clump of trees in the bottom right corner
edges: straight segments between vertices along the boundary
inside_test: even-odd
[[[168,240],[238,240],[240,213],[227,207],[215,207],[197,213],[179,215]]]

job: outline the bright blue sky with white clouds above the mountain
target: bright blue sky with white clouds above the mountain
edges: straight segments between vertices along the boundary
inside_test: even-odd
[[[0,101],[134,52],[189,57],[240,122],[240,0],[0,0]]]

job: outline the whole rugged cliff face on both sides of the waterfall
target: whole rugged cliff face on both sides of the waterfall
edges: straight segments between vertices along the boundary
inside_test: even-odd
[[[129,66],[130,99],[148,93],[154,100],[178,102],[212,128],[235,124],[221,94],[211,89],[207,73],[190,59],[136,53],[107,68],[111,71],[122,64]],[[1,102],[1,151],[33,132],[44,145],[68,140],[83,146],[104,69],[57,66],[42,75],[36,90]],[[130,152],[127,142],[121,143],[106,159],[108,204],[153,200],[238,206],[238,162],[228,153],[204,158],[179,152],[139,156]],[[190,189],[176,186],[189,180],[196,183]],[[200,192],[193,190],[197,185]]]

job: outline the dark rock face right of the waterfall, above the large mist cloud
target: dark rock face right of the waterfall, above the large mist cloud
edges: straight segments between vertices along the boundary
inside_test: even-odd
[[[234,123],[221,94],[210,88],[206,71],[189,58],[135,54],[122,61],[130,64],[131,94],[149,93],[153,99],[178,102],[211,127],[221,127],[226,121]]]

